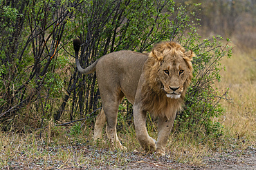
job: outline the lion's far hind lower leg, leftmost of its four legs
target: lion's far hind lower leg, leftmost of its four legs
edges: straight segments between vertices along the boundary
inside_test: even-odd
[[[102,138],[102,129],[106,124],[106,122],[107,122],[107,119],[104,114],[104,110],[102,109],[100,111],[100,114],[98,114],[96,118],[95,127],[94,127],[94,136],[93,136],[94,140]]]

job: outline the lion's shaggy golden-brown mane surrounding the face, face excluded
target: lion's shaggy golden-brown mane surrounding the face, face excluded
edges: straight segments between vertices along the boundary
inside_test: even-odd
[[[183,84],[183,93],[181,94],[180,98],[167,98],[163,90],[163,85],[158,78],[158,71],[160,70],[161,62],[165,60],[164,56],[166,54],[176,56],[176,54],[181,52],[184,54],[185,49],[178,43],[158,43],[153,48],[152,52],[150,52],[149,59],[146,61],[143,67],[145,74],[145,82],[143,83],[142,87],[143,110],[149,111],[149,113],[154,114],[154,116],[166,116],[168,119],[170,119],[176,115],[176,111],[180,111],[182,109],[185,92],[188,89],[192,79],[191,59],[188,56],[183,57],[188,65],[189,74],[185,80],[185,83]],[[156,57],[158,60],[156,60]]]

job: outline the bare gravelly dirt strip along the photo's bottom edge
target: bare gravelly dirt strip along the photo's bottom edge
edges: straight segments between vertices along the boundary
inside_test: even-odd
[[[28,156],[24,151],[12,158],[8,166],[2,169],[256,169],[256,148],[253,147],[248,147],[244,151],[209,153],[202,158],[203,163],[200,166],[176,162],[168,155],[156,158],[154,154],[125,153],[93,149],[93,147],[90,149],[85,146],[38,148],[40,149],[47,150],[46,157]],[[62,162],[56,157],[59,151],[73,152],[73,154],[68,161]],[[87,161],[81,162],[79,159],[81,156]]]

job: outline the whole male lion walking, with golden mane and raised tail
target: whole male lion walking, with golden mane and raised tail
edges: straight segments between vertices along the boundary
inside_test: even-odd
[[[158,43],[149,54],[119,51],[102,56],[86,69],[78,60],[80,40],[73,41],[77,69],[82,74],[96,71],[102,111],[96,118],[94,139],[102,137],[107,121],[111,147],[122,147],[116,134],[118,105],[124,96],[134,105],[134,125],[141,147],[165,155],[176,112],[181,110],[185,91],[192,78],[192,50],[185,52],[178,43]],[[147,111],[158,116],[158,138],[149,137]]]

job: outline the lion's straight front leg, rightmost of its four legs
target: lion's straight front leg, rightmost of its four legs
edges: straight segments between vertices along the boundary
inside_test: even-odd
[[[168,120],[166,117],[158,119],[158,138],[156,143],[156,154],[165,156],[165,147],[174,124],[175,115]]]

